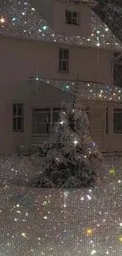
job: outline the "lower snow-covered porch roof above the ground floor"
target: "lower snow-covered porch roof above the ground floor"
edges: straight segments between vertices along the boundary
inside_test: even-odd
[[[32,78],[31,78],[32,79]],[[70,93],[71,87],[76,83],[76,80],[50,80],[39,77],[33,78],[46,84],[50,84],[58,89]],[[80,87],[81,98],[89,101],[105,101],[105,102],[122,102],[122,88],[112,85],[105,85],[103,83],[92,83],[78,81]],[[38,83],[39,95],[42,95],[42,83]]]

